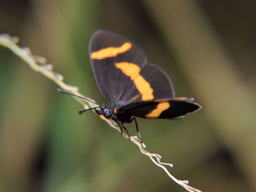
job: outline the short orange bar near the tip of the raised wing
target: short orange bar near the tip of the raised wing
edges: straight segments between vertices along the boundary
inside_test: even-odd
[[[125,42],[121,47],[107,47],[91,53],[91,59],[103,59],[115,57],[118,54],[127,52],[132,47],[132,44]]]

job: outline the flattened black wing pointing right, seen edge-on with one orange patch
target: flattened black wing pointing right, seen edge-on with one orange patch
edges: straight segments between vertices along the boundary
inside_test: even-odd
[[[171,100],[142,101],[128,104],[118,109],[118,115],[122,114],[139,118],[163,118],[177,119],[197,112],[201,109],[200,104],[195,103],[192,98],[174,98]]]

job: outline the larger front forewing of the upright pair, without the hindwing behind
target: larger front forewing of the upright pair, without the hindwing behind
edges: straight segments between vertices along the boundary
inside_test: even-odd
[[[123,66],[133,71],[130,73],[138,73],[147,63],[140,47],[119,34],[97,30],[91,37],[89,49],[98,88],[110,105],[119,101],[121,106],[140,93],[130,77],[118,69]]]

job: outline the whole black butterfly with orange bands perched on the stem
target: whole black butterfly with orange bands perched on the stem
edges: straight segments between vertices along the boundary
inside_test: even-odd
[[[166,72],[148,63],[143,50],[126,37],[99,29],[91,36],[89,54],[97,86],[108,104],[80,114],[95,110],[114,120],[121,134],[124,129],[128,136],[124,123],[134,120],[140,137],[136,118],[173,120],[201,109],[192,97],[176,97]]]

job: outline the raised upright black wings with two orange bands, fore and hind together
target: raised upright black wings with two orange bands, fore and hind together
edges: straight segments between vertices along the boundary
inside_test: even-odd
[[[167,74],[159,66],[147,64],[143,50],[121,35],[94,32],[90,56],[99,90],[113,108],[174,97]]]

